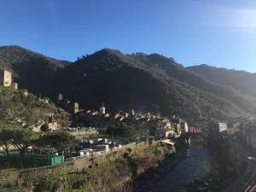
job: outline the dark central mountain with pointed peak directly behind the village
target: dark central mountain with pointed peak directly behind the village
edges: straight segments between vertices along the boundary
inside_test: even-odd
[[[135,108],[166,116],[177,114],[191,121],[241,117],[248,112],[241,106],[247,102],[252,104],[251,98],[240,97],[238,91],[241,106],[213,94],[213,90],[202,90],[189,84],[189,80],[182,80],[183,77],[177,78],[179,75],[174,76],[167,69],[172,72],[175,68],[182,74],[194,75],[198,83],[203,79],[172,60],[172,63],[166,62],[170,60],[168,58],[162,58],[166,61],[161,63],[154,61],[154,55],[144,56],[148,61],[142,55],[124,55],[118,50],[102,49],[62,70],[55,87],[71,100],[79,101],[84,108],[97,108],[104,101],[111,110]],[[236,90],[232,94],[236,94]],[[246,106],[253,106],[250,104]]]

